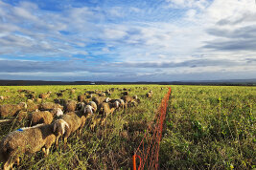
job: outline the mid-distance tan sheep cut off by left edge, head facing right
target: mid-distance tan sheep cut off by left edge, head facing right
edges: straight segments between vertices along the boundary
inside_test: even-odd
[[[14,116],[17,112],[27,109],[27,104],[21,102],[19,104],[4,104],[0,105],[0,117]]]

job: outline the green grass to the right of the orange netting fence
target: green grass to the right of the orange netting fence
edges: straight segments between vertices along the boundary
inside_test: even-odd
[[[172,87],[162,169],[255,168],[255,87]]]

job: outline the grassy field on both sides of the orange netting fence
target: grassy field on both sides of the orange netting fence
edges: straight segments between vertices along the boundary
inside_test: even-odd
[[[54,101],[59,90],[68,91],[61,98],[75,99],[90,90],[131,89],[130,96],[141,99],[138,106],[116,111],[104,127],[91,131],[85,126],[82,137],[71,137],[64,148],[52,147],[44,158],[38,152],[25,155],[17,169],[128,169],[131,157],[145,129],[157,112],[162,97],[168,92],[160,85],[105,86],[15,86],[0,87],[0,104],[27,101],[17,90],[35,91],[35,96],[53,92],[45,101]],[[143,89],[146,88],[146,89]],[[145,95],[150,90],[153,97]],[[122,91],[110,97],[120,98]],[[256,162],[255,87],[172,86],[160,147],[160,169],[251,169]],[[0,127],[0,139],[26,124],[15,122]]]

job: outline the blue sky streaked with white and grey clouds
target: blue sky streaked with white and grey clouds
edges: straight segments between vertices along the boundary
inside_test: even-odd
[[[256,78],[254,0],[0,0],[0,79]]]

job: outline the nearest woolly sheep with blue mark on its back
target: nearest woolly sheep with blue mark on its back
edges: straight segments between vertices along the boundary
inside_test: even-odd
[[[0,144],[0,162],[3,169],[8,170],[17,162],[22,154],[33,154],[42,149],[45,156],[56,138],[65,133],[68,124],[58,119],[52,124],[39,124],[34,127],[21,128],[3,138]]]

